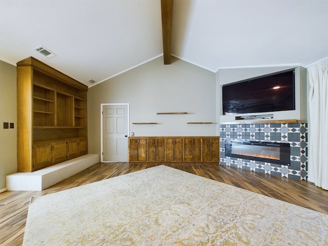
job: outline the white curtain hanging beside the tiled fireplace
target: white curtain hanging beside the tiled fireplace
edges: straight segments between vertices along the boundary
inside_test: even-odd
[[[328,190],[328,59],[308,68],[309,159],[308,180]]]

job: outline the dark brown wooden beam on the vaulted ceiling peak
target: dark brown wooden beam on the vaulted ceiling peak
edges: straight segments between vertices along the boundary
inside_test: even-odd
[[[171,64],[173,0],[161,0],[164,64]]]

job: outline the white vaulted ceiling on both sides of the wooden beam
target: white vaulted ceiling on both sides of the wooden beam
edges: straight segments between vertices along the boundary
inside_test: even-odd
[[[34,56],[90,86],[162,53],[160,0],[0,0],[13,65]],[[307,67],[328,57],[328,0],[174,0],[172,55],[213,72]]]

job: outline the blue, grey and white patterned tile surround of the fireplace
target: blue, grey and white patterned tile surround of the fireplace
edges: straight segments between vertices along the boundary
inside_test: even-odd
[[[291,166],[225,156],[224,142],[227,138],[231,140],[289,142],[291,144]],[[308,124],[220,124],[220,165],[295,180],[307,180]]]

